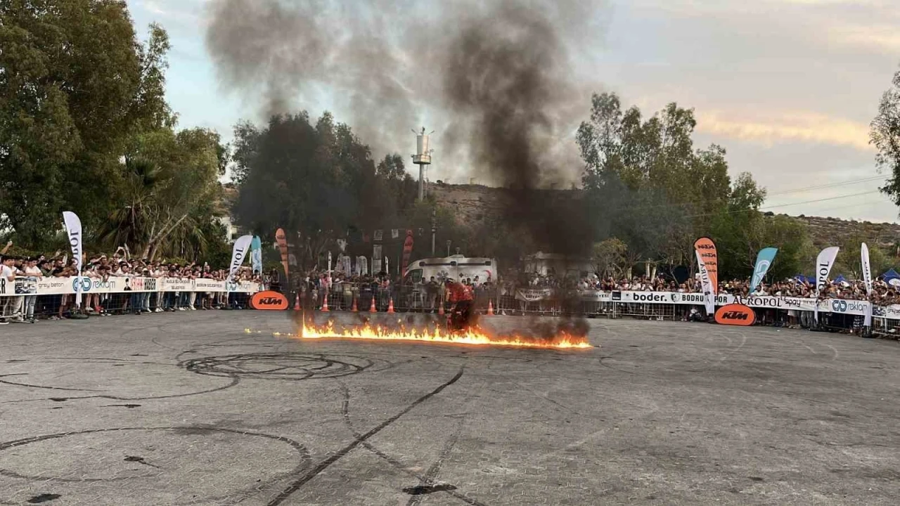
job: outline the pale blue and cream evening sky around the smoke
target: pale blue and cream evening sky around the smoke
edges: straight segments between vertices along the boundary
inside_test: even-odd
[[[179,126],[227,140],[238,120],[261,120],[260,104],[220,85],[204,45],[212,1],[128,5],[141,37],[152,22],[169,33],[166,95]],[[898,221],[896,204],[878,193],[888,175],[869,145],[869,122],[900,69],[896,0],[608,0],[596,26],[576,55],[587,77],[583,119],[591,92],[615,92],[645,114],[676,102],[695,109],[697,147],[725,147],[731,175],[750,172],[767,189],[763,210]],[[313,116],[350,115],[327,92],[299,104]],[[565,149],[577,149],[576,127]],[[467,183],[464,170],[442,176],[442,164],[454,163],[440,158],[439,133],[432,144],[430,178]],[[402,149],[415,149],[411,133]]]

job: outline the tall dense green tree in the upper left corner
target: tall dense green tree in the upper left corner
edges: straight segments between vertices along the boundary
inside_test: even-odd
[[[117,0],[9,0],[0,47],[0,228],[35,247],[64,210],[95,228],[123,184],[126,140],[170,117],[166,32],[139,44]]]

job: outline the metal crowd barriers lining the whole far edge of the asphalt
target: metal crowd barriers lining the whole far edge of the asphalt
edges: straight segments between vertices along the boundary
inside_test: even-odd
[[[474,291],[474,309],[485,314],[489,308],[496,314],[505,315],[546,315],[565,313],[558,304],[551,301],[527,302],[518,300],[516,291],[509,287],[481,286]],[[145,292],[119,294],[83,294],[81,313],[86,314],[127,314],[134,312],[202,311],[213,309],[247,309],[247,293],[205,293],[205,292]],[[429,289],[424,285],[392,285],[389,287],[335,283],[330,287],[314,290],[285,292],[293,306],[302,302],[304,307],[324,309],[326,301],[329,311],[368,312],[437,312],[441,305],[447,305],[444,289]],[[0,317],[18,316],[47,319],[64,318],[73,314],[75,295],[14,295],[0,297]],[[374,303],[374,304],[373,304]],[[569,308],[569,312],[572,308]],[[761,325],[792,328],[812,328],[815,326],[812,312],[784,309],[754,308],[757,321]],[[575,308],[575,314],[588,318],[632,318],[651,321],[689,321],[692,316],[704,316],[700,305],[590,302],[582,301]],[[824,330],[860,333],[863,318],[849,314],[820,312],[820,327]],[[900,320],[873,317],[872,333],[888,339],[900,338]]]

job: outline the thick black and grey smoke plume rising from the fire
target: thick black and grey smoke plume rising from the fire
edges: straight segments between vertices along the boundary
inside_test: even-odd
[[[596,44],[602,6],[218,0],[206,41],[223,86],[262,97],[266,114],[317,104],[328,90],[361,139],[392,151],[430,114],[445,127],[439,159],[508,188],[510,225],[545,252],[583,256],[593,239],[586,211],[547,188],[583,167],[572,133],[594,83],[572,62]]]

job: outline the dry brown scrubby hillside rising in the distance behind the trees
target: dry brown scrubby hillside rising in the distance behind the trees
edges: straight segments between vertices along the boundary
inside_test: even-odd
[[[572,190],[553,192],[574,193]],[[509,198],[503,188],[482,185],[432,184],[428,187],[428,193],[434,195],[438,203],[455,209],[459,220],[465,222],[494,219],[500,210],[501,199]],[[806,228],[817,246],[837,244],[842,239],[857,234],[883,247],[900,243],[900,224],[897,223],[846,221],[818,216],[795,216],[794,219],[806,223]]]

